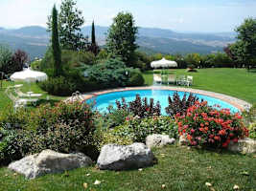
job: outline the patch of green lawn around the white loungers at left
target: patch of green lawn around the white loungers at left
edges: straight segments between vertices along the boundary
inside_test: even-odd
[[[0,108],[2,110],[8,107],[12,107],[12,100],[5,94],[5,90],[8,86],[13,86],[16,84],[23,84],[23,86],[20,89],[23,93],[32,91],[36,94],[42,94],[39,101],[37,102],[38,104],[42,104],[46,102],[54,103],[66,98],[65,96],[49,96],[47,95],[46,92],[43,92],[36,83],[28,84],[28,83],[22,83],[22,82],[3,81],[3,87],[2,88],[0,87]],[[47,96],[49,97],[49,100],[47,100]],[[31,106],[31,107],[34,107],[34,106]]]

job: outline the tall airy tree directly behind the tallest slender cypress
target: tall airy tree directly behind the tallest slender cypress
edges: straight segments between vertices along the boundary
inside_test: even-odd
[[[81,33],[84,19],[81,11],[76,8],[75,0],[62,0],[58,14],[59,43],[63,49],[80,51],[86,50],[88,37]],[[51,31],[52,16],[48,17],[48,31]]]

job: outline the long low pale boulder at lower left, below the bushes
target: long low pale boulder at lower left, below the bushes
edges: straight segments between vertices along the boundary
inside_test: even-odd
[[[45,174],[60,173],[91,164],[92,160],[81,153],[61,154],[52,150],[44,150],[39,154],[13,161],[8,168],[23,174],[28,179],[35,179]]]

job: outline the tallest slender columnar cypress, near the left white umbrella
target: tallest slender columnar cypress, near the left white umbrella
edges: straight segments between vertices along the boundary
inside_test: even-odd
[[[59,76],[62,74],[62,67],[61,51],[58,42],[58,11],[56,10],[56,6],[54,6],[52,12],[52,49],[54,55],[54,75]]]

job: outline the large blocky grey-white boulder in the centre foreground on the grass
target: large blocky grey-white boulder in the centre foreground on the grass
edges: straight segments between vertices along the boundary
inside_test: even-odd
[[[151,166],[154,162],[151,149],[143,143],[107,144],[101,150],[97,165],[102,170],[128,170]]]

